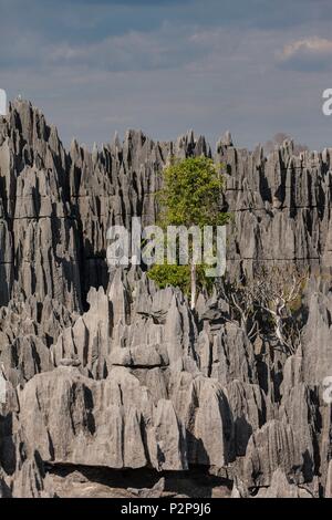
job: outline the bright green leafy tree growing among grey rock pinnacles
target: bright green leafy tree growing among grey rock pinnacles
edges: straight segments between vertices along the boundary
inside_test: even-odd
[[[164,169],[164,188],[158,194],[160,200],[159,226],[224,226],[229,215],[221,211],[224,189],[222,166],[207,157],[174,159]],[[149,277],[159,287],[178,285],[189,293],[191,309],[195,308],[197,282],[207,287],[211,280],[204,274],[204,267],[195,263],[190,248],[190,266],[154,266]]]

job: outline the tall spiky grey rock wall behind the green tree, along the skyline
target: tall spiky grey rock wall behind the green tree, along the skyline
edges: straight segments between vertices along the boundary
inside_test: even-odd
[[[225,202],[235,215],[230,271],[250,272],[258,260],[331,268],[332,149],[294,156],[286,142],[266,158],[228,137],[216,159],[226,165]],[[0,134],[0,303],[19,289],[80,309],[91,287],[107,285],[107,227],[129,227],[133,216],[155,222],[169,155],[203,153],[211,155],[194,134],[155,143],[134,131],[92,153],[76,142],[66,152],[38,110],[14,102]]]

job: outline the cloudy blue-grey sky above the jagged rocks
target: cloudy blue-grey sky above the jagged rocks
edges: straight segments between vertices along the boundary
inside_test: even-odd
[[[331,0],[0,0],[0,87],[91,145],[142,128],[332,146]]]

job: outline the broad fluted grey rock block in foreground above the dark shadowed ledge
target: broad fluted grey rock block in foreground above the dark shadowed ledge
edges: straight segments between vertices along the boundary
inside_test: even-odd
[[[20,391],[19,427],[27,451],[37,450],[46,462],[158,471],[185,470],[189,462],[220,468],[231,455],[231,417],[221,387],[207,383],[196,381],[191,392],[198,403],[190,393],[183,418],[177,392],[154,404],[148,388],[123,366],[100,381],[61,366]]]

